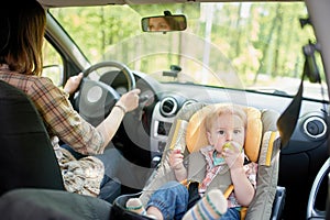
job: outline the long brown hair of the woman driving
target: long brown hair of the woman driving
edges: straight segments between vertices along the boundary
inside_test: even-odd
[[[0,19],[7,23],[0,31],[4,36],[0,42],[0,64],[20,74],[40,76],[46,13],[37,1],[23,1],[22,4],[20,8],[2,6]]]

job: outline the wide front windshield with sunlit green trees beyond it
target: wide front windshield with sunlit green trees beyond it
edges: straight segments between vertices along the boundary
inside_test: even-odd
[[[182,32],[143,32],[144,16],[185,14]],[[302,46],[315,42],[304,2],[105,6],[52,9],[90,64],[119,61],[162,82],[196,84],[294,96]],[[317,62],[324,74],[320,57]],[[305,82],[304,97],[320,96]],[[322,85],[326,89],[327,86]],[[324,92],[327,94],[327,92]]]

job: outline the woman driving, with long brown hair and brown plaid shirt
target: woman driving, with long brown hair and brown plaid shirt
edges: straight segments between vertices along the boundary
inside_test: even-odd
[[[0,79],[23,90],[34,102],[52,140],[65,188],[96,197],[106,177],[105,164],[92,155],[103,153],[124,114],[138,107],[140,89],[124,94],[97,128],[86,122],[73,109],[65,91],[75,88],[62,90],[41,76],[44,9],[37,1],[21,3],[20,8],[3,6],[0,14]],[[69,151],[59,147],[59,140],[87,156],[77,161]]]

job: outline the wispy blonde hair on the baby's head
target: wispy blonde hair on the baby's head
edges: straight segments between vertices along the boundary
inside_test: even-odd
[[[215,121],[218,119],[218,117],[224,113],[238,116],[243,121],[244,129],[246,129],[248,116],[244,109],[238,105],[223,105],[213,108],[211,112],[205,118],[206,130],[209,131],[212,128]]]

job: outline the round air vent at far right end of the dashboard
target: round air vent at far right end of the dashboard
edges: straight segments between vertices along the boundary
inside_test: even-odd
[[[327,123],[319,117],[310,117],[302,124],[304,132],[314,140],[324,138],[327,129]]]

